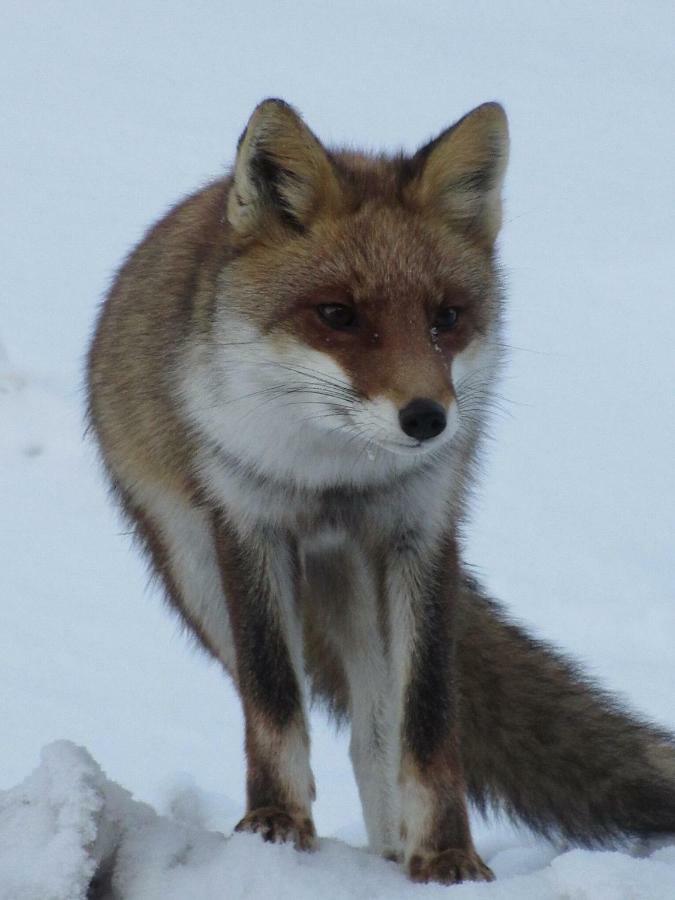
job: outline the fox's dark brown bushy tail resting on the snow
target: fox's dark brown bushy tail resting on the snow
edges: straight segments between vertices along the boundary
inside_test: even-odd
[[[675,741],[624,709],[468,580],[462,752],[471,798],[574,843],[675,833]]]

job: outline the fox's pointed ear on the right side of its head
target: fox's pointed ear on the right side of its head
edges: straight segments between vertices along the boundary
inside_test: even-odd
[[[417,151],[414,202],[492,246],[501,225],[508,152],[506,113],[498,103],[484,103]]]

